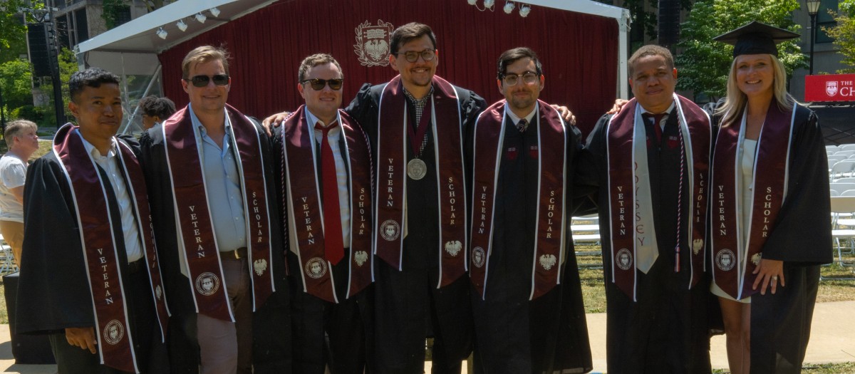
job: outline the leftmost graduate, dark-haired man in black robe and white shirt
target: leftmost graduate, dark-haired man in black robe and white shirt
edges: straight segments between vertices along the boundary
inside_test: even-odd
[[[138,210],[136,204],[144,202],[147,205],[142,174],[139,172],[139,166],[132,160],[139,155],[139,143],[133,137],[121,137],[121,140],[117,140],[112,136],[121,124],[118,81],[117,76],[99,68],[74,73],[69,81],[73,100],[69,108],[77,117],[80,127],[71,124],[63,126],[57,132],[55,140],[55,148],[62,149],[58,151],[60,155],[67,156],[64,161],[60,161],[56,152],[50,152],[35,161],[27,170],[24,194],[25,241],[22,255],[22,262],[27,263],[27,266],[21,269],[15,333],[50,334],[50,345],[58,368],[63,373],[112,374],[133,372],[134,368],[139,372],[168,372],[168,352],[162,342],[163,330],[158,323],[155,297],[162,307],[161,322],[164,325],[167,323],[168,314],[161,299],[162,294],[159,294],[161,287],[157,266],[153,265],[152,269],[146,266],[146,259],[156,264],[150,240],[142,237],[150,235],[150,232],[139,231],[139,228],[146,227],[148,222],[147,219],[145,223],[139,221],[141,211],[144,209],[147,215],[148,207],[139,206]],[[104,105],[103,102],[109,104]],[[110,130],[113,132],[109,132]],[[124,184],[122,188],[127,191],[127,198],[131,201],[123,201],[120,205],[115,186],[107,175],[108,171],[86,154],[83,143],[86,139],[91,140],[91,143],[86,143],[92,147],[104,146],[114,153],[103,162],[108,165],[115,162],[120,174],[118,178],[121,178]],[[97,151],[100,152],[101,149]],[[90,177],[94,177],[97,172],[101,184],[97,178],[90,178],[88,183],[77,182],[78,189],[74,189],[69,178],[79,180],[77,178],[80,178],[80,173],[90,169]],[[70,174],[68,170],[74,174]],[[136,179],[133,179],[134,177]],[[93,210],[92,206],[97,207],[99,204],[92,202],[91,198],[81,197],[81,193],[85,191],[80,189],[91,192],[96,198],[103,199],[103,196],[106,196],[103,212],[99,209]],[[135,196],[134,193],[143,196]],[[120,206],[131,209],[131,225],[136,225],[138,236],[129,236],[126,239]],[[101,213],[103,216],[100,216]],[[89,227],[84,231],[80,227],[80,215],[89,215],[84,221],[103,219],[103,222],[98,227]],[[108,216],[112,222],[109,222]],[[113,232],[110,232],[111,228]],[[92,243],[91,236],[86,232],[100,237],[102,244],[105,240],[108,244],[98,249],[84,249],[84,241]],[[110,241],[110,235],[115,240]],[[127,243],[133,242],[126,240],[139,243],[143,258],[128,263]],[[147,253],[147,248],[150,253]],[[97,250],[101,250],[101,254],[98,254]],[[99,256],[105,257],[99,259]],[[114,263],[118,264],[117,269],[111,266]],[[97,278],[91,278],[92,272],[101,272],[101,264],[103,275],[98,274]],[[90,270],[87,270],[87,266]],[[152,278],[149,270],[155,274]],[[111,283],[109,288],[106,282],[102,287],[101,279],[107,279]],[[152,285],[150,279],[155,279],[156,286]],[[105,289],[113,293],[108,292],[109,295],[106,295]],[[93,296],[94,292],[97,294]],[[105,307],[120,303],[123,303],[124,312],[103,312]],[[101,312],[96,311],[96,306]],[[100,318],[100,321],[97,321],[96,317]],[[125,318],[127,325],[124,323]],[[108,327],[112,325],[114,329],[118,327],[117,330],[121,333],[111,335],[109,328],[101,328],[103,324],[108,324]],[[85,333],[80,335],[69,331],[92,328],[95,336],[89,338],[85,337]],[[87,339],[92,341],[85,342]],[[117,341],[111,341],[112,339]],[[133,341],[133,346],[127,343],[127,351],[110,349],[111,346],[121,347],[128,339]],[[86,347],[88,343],[98,342],[100,345]],[[135,363],[131,361],[131,349],[136,357]],[[102,350],[103,354],[99,352]],[[125,369],[120,370],[117,366]]]

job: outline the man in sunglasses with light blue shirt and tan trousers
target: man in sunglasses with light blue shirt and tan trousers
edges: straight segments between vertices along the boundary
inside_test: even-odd
[[[268,139],[226,103],[225,50],[190,51],[182,73],[190,104],[140,139],[174,315],[173,369],[287,372],[288,289]]]

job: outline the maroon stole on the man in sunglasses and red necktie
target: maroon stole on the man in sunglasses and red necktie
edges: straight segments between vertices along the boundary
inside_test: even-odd
[[[338,302],[333,287],[333,272],[327,269],[332,265],[324,257],[324,237],[326,237],[323,215],[321,212],[321,189],[318,186],[317,159],[321,155],[315,154],[315,142],[310,137],[310,131],[314,131],[315,124],[309,124],[306,120],[305,106],[300,106],[285,121],[283,127],[282,144],[283,160],[282,171],[284,182],[288,186],[288,194],[285,196],[287,219],[290,226],[297,233],[295,239],[297,248],[291,248],[300,261],[300,273],[303,278],[303,290],[320,297],[323,300]],[[345,137],[345,164],[349,170],[349,190],[351,194],[351,243],[345,243],[350,247],[350,278],[347,279],[348,288],[345,298],[356,295],[357,292],[367,287],[374,279],[374,261],[371,253],[371,150],[362,127],[356,125],[356,121],[339,110],[339,122],[342,128],[342,136]],[[313,171],[307,174],[307,167]],[[314,176],[315,178],[310,178]],[[332,235],[341,235],[333,232]],[[344,281],[344,279],[339,279]]]

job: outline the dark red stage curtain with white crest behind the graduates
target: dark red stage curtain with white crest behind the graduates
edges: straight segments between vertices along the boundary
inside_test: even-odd
[[[223,45],[232,60],[228,102],[252,116],[297,108],[300,61],[313,53],[333,55],[345,73],[344,105],[364,82],[380,84],[397,73],[388,66],[366,67],[354,52],[356,28],[378,20],[401,26],[428,24],[437,35],[439,76],[495,102],[496,60],[504,50],[527,46],[540,56],[546,102],[568,106],[587,133],[616,96],[616,20],[563,10],[532,7],[527,18],[481,12],[463,0],[283,0],[164,51],[164,91],[183,107],[181,60],[199,45]]]

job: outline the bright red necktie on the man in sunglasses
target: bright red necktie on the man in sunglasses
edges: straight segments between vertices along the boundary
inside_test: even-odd
[[[328,127],[315,124],[315,130],[323,133],[321,137],[321,181],[323,183],[323,223],[324,254],[333,265],[345,257],[345,245],[341,237],[341,207],[339,207],[339,179],[335,174],[333,148],[329,146],[329,131],[339,126],[333,122]]]

